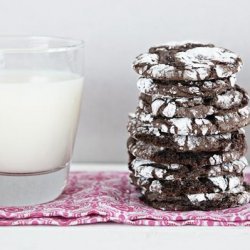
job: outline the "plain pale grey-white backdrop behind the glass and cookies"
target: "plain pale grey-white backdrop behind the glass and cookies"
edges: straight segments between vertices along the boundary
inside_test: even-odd
[[[249,8],[248,0],[1,0],[0,35],[85,40],[74,160],[125,162],[127,114],[137,104],[134,57],[165,41],[210,41],[242,56],[238,79],[250,92]]]

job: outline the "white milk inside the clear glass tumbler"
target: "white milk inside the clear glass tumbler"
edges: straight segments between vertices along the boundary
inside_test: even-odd
[[[0,172],[43,172],[70,161],[82,86],[72,73],[0,71]]]

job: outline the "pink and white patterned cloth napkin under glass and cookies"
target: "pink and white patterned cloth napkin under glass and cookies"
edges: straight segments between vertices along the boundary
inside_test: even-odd
[[[250,181],[250,174],[247,179]],[[67,188],[53,202],[0,207],[0,225],[116,222],[147,226],[250,226],[250,204],[211,212],[164,212],[143,204],[138,196],[126,172],[71,172]]]

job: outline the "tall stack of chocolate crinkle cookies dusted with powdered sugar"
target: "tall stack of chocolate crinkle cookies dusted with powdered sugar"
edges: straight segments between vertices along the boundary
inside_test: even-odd
[[[242,127],[248,95],[233,52],[183,42],[152,47],[133,63],[139,105],[127,142],[131,182],[161,210],[215,210],[250,202]]]

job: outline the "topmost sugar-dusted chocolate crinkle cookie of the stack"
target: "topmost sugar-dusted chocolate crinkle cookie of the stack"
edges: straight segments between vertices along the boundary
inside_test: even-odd
[[[135,71],[148,78],[201,81],[226,78],[240,71],[242,60],[213,44],[183,42],[152,47],[136,57]]]

